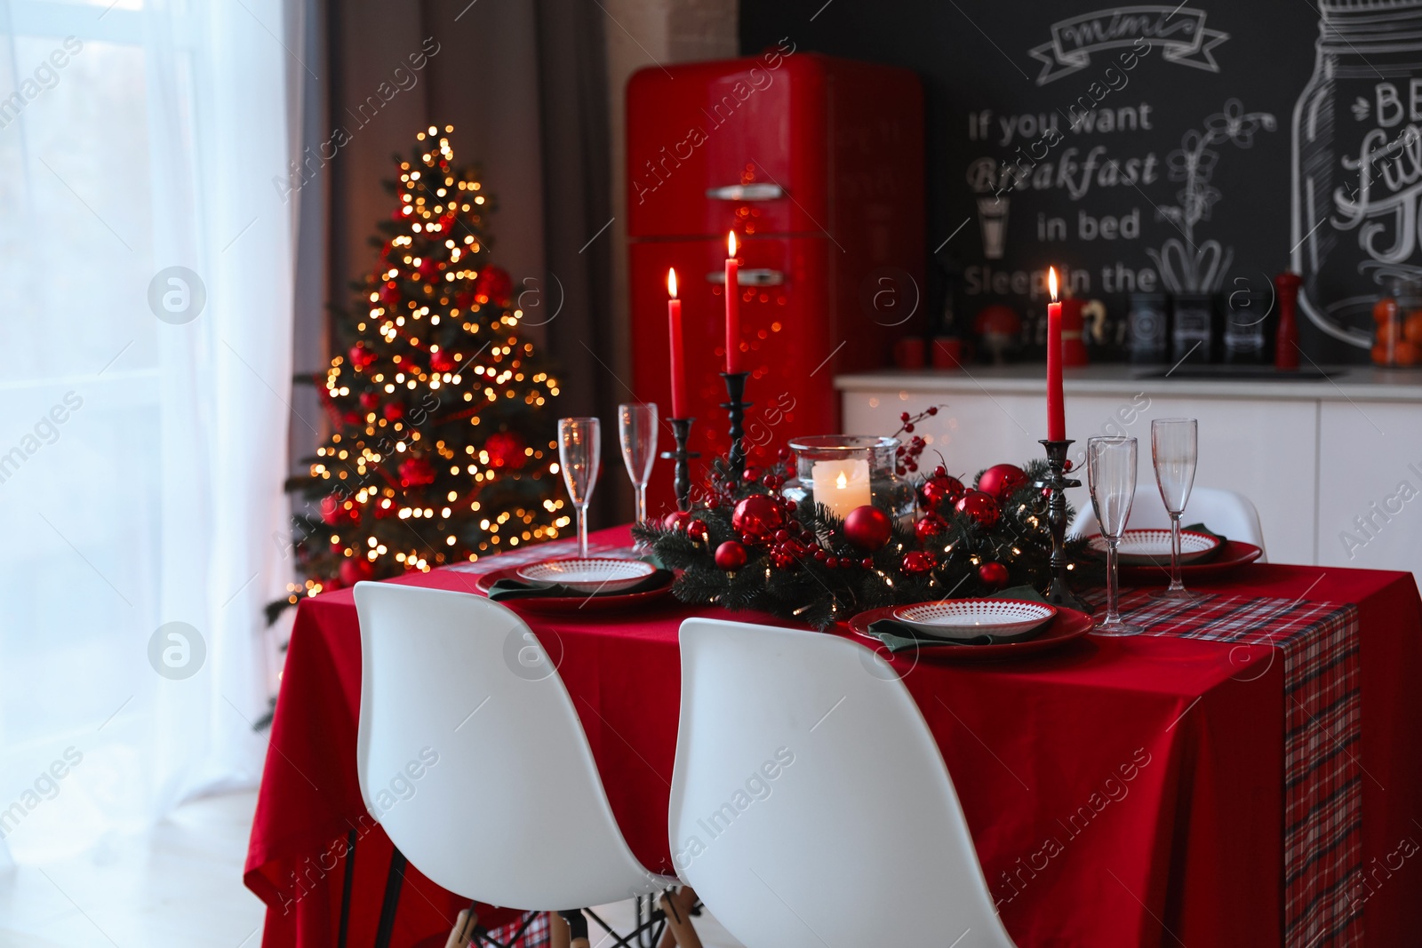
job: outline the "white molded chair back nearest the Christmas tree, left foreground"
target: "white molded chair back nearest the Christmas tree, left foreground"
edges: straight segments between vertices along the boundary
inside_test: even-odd
[[[556,911],[663,887],[627,849],[557,669],[482,596],[357,583],[361,796],[445,888]]]

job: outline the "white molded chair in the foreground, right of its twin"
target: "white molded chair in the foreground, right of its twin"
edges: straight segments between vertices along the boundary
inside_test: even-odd
[[[677,874],[748,948],[1012,948],[937,742],[856,642],[681,624]]]

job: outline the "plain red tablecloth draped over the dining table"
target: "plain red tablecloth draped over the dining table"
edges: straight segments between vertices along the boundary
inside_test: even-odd
[[[626,543],[626,530],[597,539]],[[474,580],[437,570],[400,581],[472,591]],[[1419,944],[1422,689],[1411,678],[1422,668],[1422,601],[1412,576],[1256,564],[1200,590],[1357,604],[1359,736],[1338,740],[1337,723],[1314,721],[1324,746],[1311,753],[1347,758],[1362,775],[1354,837],[1362,885],[1348,897],[1362,924],[1317,945],[1361,944],[1364,932],[1369,945]],[[710,611],[670,601],[637,614],[526,614],[545,647],[562,654],[559,671],[629,844],[660,871],[671,867],[677,628]],[[939,739],[1018,945],[1283,944],[1291,699],[1274,648],[1092,637],[1031,661],[954,664],[926,651],[896,665]],[[353,829],[350,944],[370,944],[390,843],[360,799],[358,702],[350,593],[303,601],[247,853],[246,883],[269,905],[267,948],[336,944]],[[411,868],[394,944],[442,944],[459,907]]]

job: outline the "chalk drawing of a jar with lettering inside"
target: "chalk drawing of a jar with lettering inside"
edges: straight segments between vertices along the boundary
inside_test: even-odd
[[[1322,0],[1314,75],[1294,107],[1298,306],[1367,350],[1379,287],[1422,276],[1422,0]]]

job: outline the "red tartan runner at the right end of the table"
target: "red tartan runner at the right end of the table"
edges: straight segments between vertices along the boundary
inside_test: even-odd
[[[1094,597],[1103,600],[1103,597]],[[1197,594],[1193,603],[1122,593],[1148,635],[1273,645],[1284,659],[1284,944],[1362,944],[1362,698],[1358,608]],[[1233,654],[1231,654],[1233,659]],[[1240,678],[1249,669],[1240,654]]]

